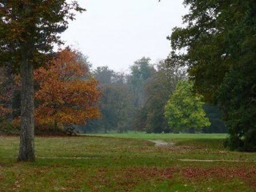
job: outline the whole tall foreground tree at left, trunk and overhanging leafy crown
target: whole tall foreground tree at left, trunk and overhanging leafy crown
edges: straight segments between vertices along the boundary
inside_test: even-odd
[[[76,1],[7,0],[0,3],[0,62],[21,74],[21,135],[18,160],[35,160],[33,68],[45,62],[58,33],[82,12]],[[9,61],[12,61],[10,63]]]

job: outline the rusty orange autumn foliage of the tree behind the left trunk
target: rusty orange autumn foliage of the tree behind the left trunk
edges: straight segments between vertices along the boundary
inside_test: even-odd
[[[85,124],[88,119],[100,117],[98,82],[89,75],[77,52],[59,51],[47,69],[35,71],[35,80],[40,85],[35,93],[39,124]]]

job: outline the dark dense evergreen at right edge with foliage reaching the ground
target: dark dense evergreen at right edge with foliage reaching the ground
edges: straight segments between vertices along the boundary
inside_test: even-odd
[[[217,102],[232,150],[256,151],[256,2],[233,2],[229,33],[231,66],[218,90]]]

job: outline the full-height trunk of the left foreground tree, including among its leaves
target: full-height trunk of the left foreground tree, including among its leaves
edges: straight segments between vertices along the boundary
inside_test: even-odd
[[[32,2],[23,4],[22,13],[24,21],[32,15]],[[34,141],[34,76],[33,76],[33,34],[35,24],[26,22],[25,30],[22,33],[21,41],[21,132],[20,132],[20,152],[19,161],[35,160]]]

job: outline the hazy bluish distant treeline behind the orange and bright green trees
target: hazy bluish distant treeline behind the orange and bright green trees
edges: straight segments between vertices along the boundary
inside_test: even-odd
[[[129,74],[98,67],[92,71],[98,79],[102,97],[102,117],[87,121],[86,126],[77,126],[81,132],[127,132],[147,133],[177,132],[167,124],[165,105],[179,80],[188,79],[184,68],[169,67],[165,61],[150,63],[143,57],[131,67]],[[204,110],[211,126],[202,128],[204,133],[226,133],[216,106],[205,103]],[[180,129],[181,132],[188,130]]]

